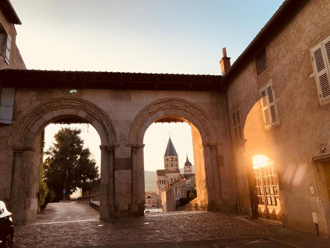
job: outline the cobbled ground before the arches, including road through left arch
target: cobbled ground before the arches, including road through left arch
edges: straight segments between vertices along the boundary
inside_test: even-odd
[[[302,234],[282,225],[249,221],[237,213],[171,212],[104,222],[86,205],[57,203],[50,207],[46,215],[53,218],[16,227],[15,248],[330,247],[328,239]],[[88,208],[93,215],[86,216]],[[59,213],[55,211],[62,214],[55,215]],[[73,217],[74,214],[80,216]],[[67,215],[71,218],[66,218],[70,217]]]

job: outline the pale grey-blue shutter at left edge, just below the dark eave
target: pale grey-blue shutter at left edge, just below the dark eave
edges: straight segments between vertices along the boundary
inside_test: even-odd
[[[0,123],[12,124],[15,88],[2,88]]]

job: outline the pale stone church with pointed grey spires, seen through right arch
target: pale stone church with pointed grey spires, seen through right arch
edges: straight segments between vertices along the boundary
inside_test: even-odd
[[[170,137],[164,154],[164,170],[156,170],[156,188],[159,207],[162,206],[161,190],[178,179],[180,180],[182,176],[180,173],[179,156]],[[184,174],[192,174],[192,164],[188,160],[188,155],[184,163]]]

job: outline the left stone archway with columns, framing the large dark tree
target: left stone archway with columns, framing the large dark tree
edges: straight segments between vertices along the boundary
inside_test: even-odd
[[[114,147],[116,131],[109,116],[97,105],[78,98],[57,98],[40,103],[19,121],[12,137],[14,173],[10,210],[16,225],[36,220],[39,186],[40,140],[51,122],[76,118],[90,123],[101,139],[101,219],[115,217]]]

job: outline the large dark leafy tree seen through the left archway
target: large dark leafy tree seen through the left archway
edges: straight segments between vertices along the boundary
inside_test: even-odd
[[[62,128],[55,135],[55,143],[45,152],[44,180],[55,192],[54,201],[63,198],[65,183],[66,199],[78,188],[99,177],[96,161],[88,148],[83,148],[80,129]]]

